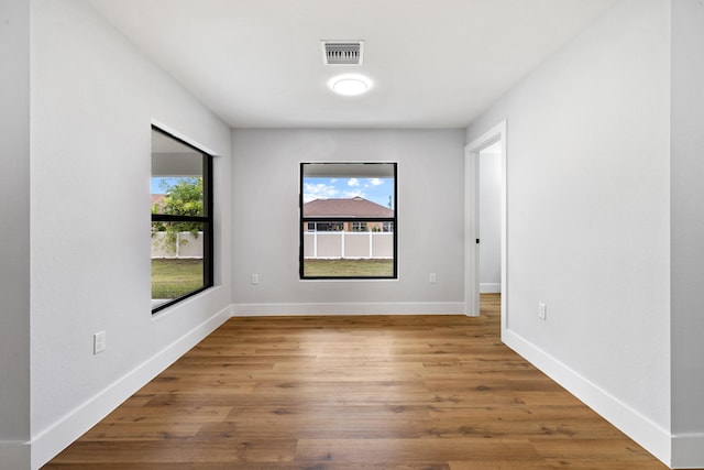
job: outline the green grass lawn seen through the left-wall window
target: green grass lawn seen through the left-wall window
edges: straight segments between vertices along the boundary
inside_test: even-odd
[[[202,287],[202,260],[152,260],[152,298],[176,298]]]

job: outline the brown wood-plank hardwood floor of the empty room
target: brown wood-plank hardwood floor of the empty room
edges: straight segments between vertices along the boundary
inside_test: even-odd
[[[45,469],[666,469],[483,315],[232,318]]]

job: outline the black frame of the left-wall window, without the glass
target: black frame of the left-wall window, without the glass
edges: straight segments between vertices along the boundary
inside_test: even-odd
[[[184,295],[172,298],[168,302],[152,307],[152,315],[168,308],[179,302],[183,302],[196,294],[199,294],[215,286],[215,250],[213,250],[213,217],[212,217],[212,160],[213,156],[202,149],[198,149],[191,143],[174,135],[173,133],[152,124],[152,132],[158,132],[178,143],[194,150],[202,156],[202,216],[172,216],[167,214],[152,214],[151,223],[153,222],[199,222],[202,223],[202,286],[190,291]],[[153,152],[152,152],[153,153]],[[150,172],[151,174],[151,172]],[[152,175],[154,176],[154,175]],[[151,276],[150,276],[151,280]]]

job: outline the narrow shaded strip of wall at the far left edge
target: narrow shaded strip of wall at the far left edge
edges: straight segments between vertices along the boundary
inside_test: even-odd
[[[30,6],[0,2],[0,462],[30,439]]]

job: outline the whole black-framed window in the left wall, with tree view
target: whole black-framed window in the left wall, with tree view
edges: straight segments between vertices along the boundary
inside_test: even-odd
[[[152,128],[152,313],[212,287],[212,156]]]

